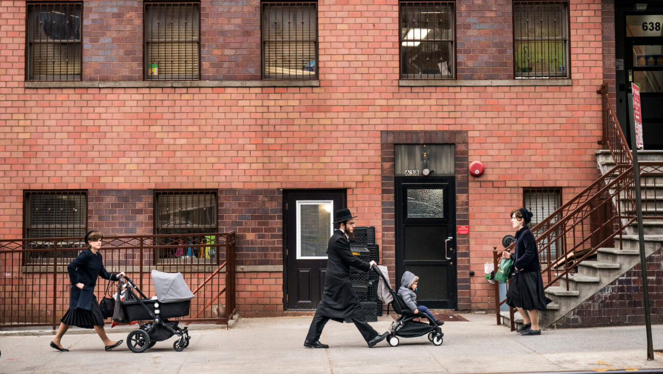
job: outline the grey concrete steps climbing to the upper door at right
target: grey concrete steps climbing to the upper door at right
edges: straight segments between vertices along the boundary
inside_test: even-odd
[[[644,171],[656,169],[655,166],[649,166],[646,163],[663,164],[663,151],[640,151],[638,161],[642,163],[640,169]],[[606,175],[615,167],[611,153],[608,150],[597,151],[597,162],[601,173],[609,177],[608,181],[611,180],[610,175]],[[650,256],[663,246],[663,220],[647,219],[648,216],[660,217],[663,215],[663,173],[643,175],[640,180],[640,189],[644,248],[646,256]],[[632,193],[633,185],[627,187],[626,190]],[[610,192],[614,193],[615,189],[610,189]],[[634,215],[633,203],[626,199],[627,193],[612,196],[614,207],[619,205],[623,214]],[[628,220],[622,219],[622,222],[627,224]],[[640,262],[637,221],[627,225],[623,234],[615,236],[611,243],[614,243],[614,246],[603,246],[597,249],[596,259],[581,261],[577,265],[577,272],[569,274],[568,278],[566,276],[560,278],[557,285],[550,285],[546,288],[546,296],[552,300],[552,303],[548,304],[548,310],[539,314],[541,328],[547,328]],[[510,326],[509,311],[503,311],[500,314],[503,324]],[[522,316],[518,312],[514,313],[514,324],[516,328],[522,324]]]

